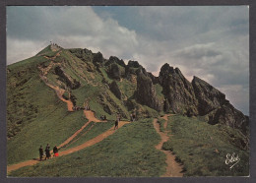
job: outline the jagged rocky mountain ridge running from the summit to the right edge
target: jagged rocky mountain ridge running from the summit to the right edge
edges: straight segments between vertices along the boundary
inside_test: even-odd
[[[98,94],[96,102],[109,115],[120,113],[129,118],[129,113],[138,116],[143,113],[143,116],[152,116],[148,109],[141,106],[146,105],[157,112],[203,116],[209,124],[220,123],[248,135],[248,116],[235,109],[223,92],[196,76],[189,82],[178,68],[167,63],[160,68],[159,76],[154,76],[138,61],[129,60],[125,64],[116,56],[105,59],[100,52],[93,53],[87,48],[64,49],[54,43],[34,57],[44,59],[32,62],[38,72],[48,70],[45,77],[70,93],[74,105],[80,100],[75,92],[85,85],[103,86],[102,89],[107,91]],[[8,73],[12,67],[8,66]],[[81,100],[78,103],[81,105]]]

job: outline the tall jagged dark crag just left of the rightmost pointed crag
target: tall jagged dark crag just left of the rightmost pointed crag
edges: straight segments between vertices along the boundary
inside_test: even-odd
[[[173,69],[168,64],[164,64],[160,69],[159,80],[162,93],[174,113],[187,116],[198,115],[198,101],[193,87],[178,68]]]

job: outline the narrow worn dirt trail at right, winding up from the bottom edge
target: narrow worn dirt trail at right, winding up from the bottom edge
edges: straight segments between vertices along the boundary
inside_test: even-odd
[[[162,117],[163,119],[165,119],[165,123],[164,123],[164,128],[166,128],[167,126],[167,115],[164,115]],[[157,150],[160,150],[161,152],[164,152],[166,154],[166,163],[167,163],[167,167],[166,167],[166,172],[161,175],[162,177],[182,177],[183,173],[181,173],[183,167],[182,165],[180,165],[179,163],[177,163],[175,161],[175,155],[173,155],[171,152],[169,151],[163,151],[161,149],[162,144],[164,142],[166,142],[168,140],[168,136],[165,133],[160,132],[160,124],[158,123],[158,119],[154,119],[154,127],[156,129],[156,131],[160,134],[160,144],[156,146]]]

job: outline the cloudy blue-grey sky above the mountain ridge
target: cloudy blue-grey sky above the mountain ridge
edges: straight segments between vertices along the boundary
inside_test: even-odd
[[[105,58],[137,60],[197,76],[249,112],[249,9],[212,7],[8,7],[7,64],[31,57],[50,40]]]

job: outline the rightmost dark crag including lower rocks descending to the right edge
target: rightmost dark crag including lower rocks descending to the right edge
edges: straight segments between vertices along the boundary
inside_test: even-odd
[[[224,124],[239,129],[243,134],[248,134],[248,117],[235,109],[225,99],[223,92],[197,77],[194,77],[192,86],[198,99],[199,115],[208,116],[208,123]]]

